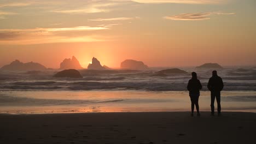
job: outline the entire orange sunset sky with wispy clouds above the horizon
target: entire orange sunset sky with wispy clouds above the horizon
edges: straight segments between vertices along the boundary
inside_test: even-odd
[[[0,67],[256,65],[255,0],[0,0]]]

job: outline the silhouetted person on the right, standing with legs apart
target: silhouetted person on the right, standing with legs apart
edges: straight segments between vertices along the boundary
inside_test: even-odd
[[[212,77],[210,78],[207,87],[211,91],[211,114],[214,116],[214,100],[216,97],[216,101],[218,104],[218,115],[220,115],[220,91],[222,91],[224,85],[222,78],[217,75],[216,70],[212,71]]]

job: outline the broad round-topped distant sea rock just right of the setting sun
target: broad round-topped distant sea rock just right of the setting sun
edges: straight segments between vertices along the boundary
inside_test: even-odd
[[[148,70],[148,65],[141,61],[135,61],[133,59],[126,59],[120,64],[121,69],[132,69],[132,70]]]

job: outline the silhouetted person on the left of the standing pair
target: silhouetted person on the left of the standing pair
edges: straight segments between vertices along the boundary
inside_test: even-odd
[[[197,75],[195,72],[191,73],[192,78],[188,82],[188,91],[189,97],[191,100],[191,116],[194,116],[194,106],[196,106],[197,116],[200,116],[199,112],[199,96],[200,96],[200,89],[202,89],[202,85],[200,80],[197,79]]]

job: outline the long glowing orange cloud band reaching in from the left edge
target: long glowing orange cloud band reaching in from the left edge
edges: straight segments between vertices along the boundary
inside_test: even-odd
[[[107,41],[104,37],[91,31],[102,31],[111,26],[78,26],[62,28],[0,29],[0,44],[45,44]],[[72,33],[70,33],[72,31]]]

